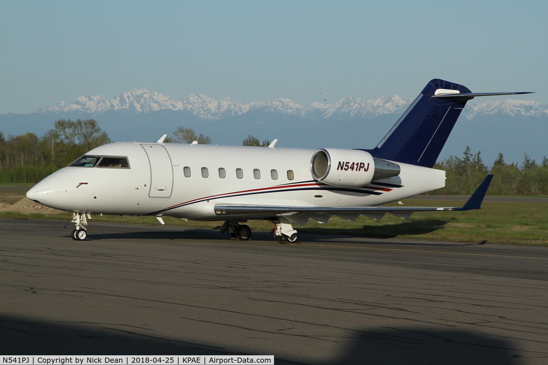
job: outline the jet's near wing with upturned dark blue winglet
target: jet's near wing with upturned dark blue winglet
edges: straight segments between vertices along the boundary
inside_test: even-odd
[[[348,219],[360,214],[374,219],[382,218],[386,213],[397,217],[408,218],[413,212],[428,211],[465,211],[481,209],[481,204],[493,175],[487,175],[476,191],[462,207],[322,207],[322,206],[276,206],[276,205],[239,205],[239,204],[215,204],[215,214],[218,216],[246,216],[246,217],[275,217],[290,216],[296,214],[307,215],[336,215]],[[349,220],[353,220],[349,219]]]

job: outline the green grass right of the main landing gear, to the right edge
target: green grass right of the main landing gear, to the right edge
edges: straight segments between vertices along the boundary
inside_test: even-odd
[[[409,206],[462,204],[432,200],[406,200],[406,203]],[[353,224],[337,218],[323,227],[309,223],[300,231],[309,231],[310,227],[310,231],[315,232],[346,232],[358,236],[548,246],[548,204],[483,202],[482,207],[481,210],[466,212],[414,213],[405,220],[386,215],[380,221],[372,221],[361,216]]]

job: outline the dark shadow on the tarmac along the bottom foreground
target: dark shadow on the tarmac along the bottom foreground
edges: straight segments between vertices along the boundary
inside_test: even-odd
[[[0,315],[2,355],[274,355],[276,364],[497,364],[514,365],[524,355],[511,341],[452,329],[367,328],[341,339],[341,351],[331,358],[284,360],[276,354],[230,351],[219,344],[200,344],[186,338],[155,337],[109,323],[48,322],[28,317]],[[152,332],[152,331],[151,331]],[[184,329],[181,330],[184,333]],[[344,342],[349,345],[344,346]],[[241,352],[240,352],[241,351]],[[255,351],[259,351],[256,353]],[[522,354],[522,355],[519,355]],[[521,362],[520,362],[521,363]]]

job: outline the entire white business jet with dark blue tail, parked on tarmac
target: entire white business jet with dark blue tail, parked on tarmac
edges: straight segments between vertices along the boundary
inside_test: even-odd
[[[463,85],[431,80],[373,149],[276,148],[115,142],[90,150],[28,190],[27,198],[73,213],[72,238],[85,240],[92,214],[224,220],[221,233],[249,240],[248,219],[276,224],[296,244],[293,224],[332,216],[408,218],[416,211],[479,209],[492,175],[463,207],[382,207],[445,186],[432,169],[460,112],[476,96]]]

